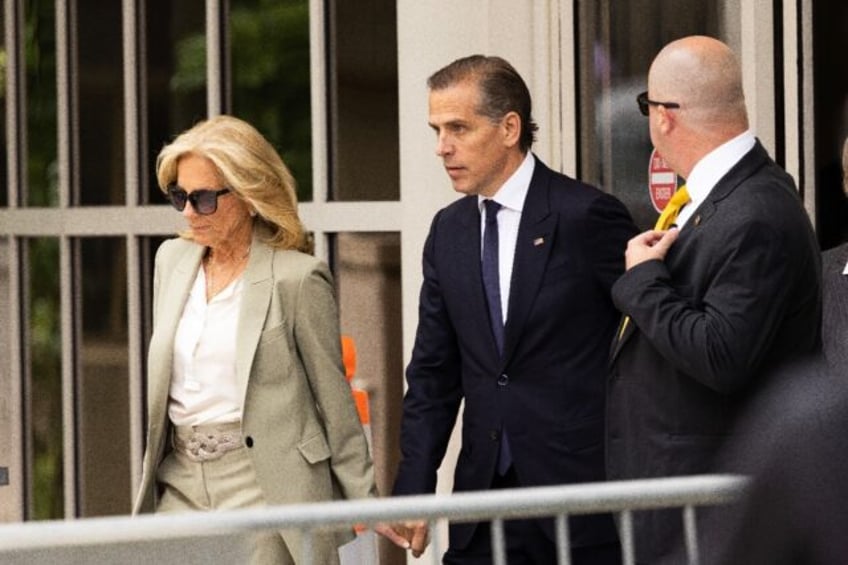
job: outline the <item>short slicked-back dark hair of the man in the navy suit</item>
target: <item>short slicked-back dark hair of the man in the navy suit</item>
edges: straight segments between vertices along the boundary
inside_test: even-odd
[[[497,121],[509,112],[518,114],[521,118],[519,146],[522,151],[529,151],[539,126],[530,115],[530,91],[518,71],[500,57],[470,55],[433,73],[427,79],[427,86],[430,90],[442,90],[466,80],[473,80],[480,88],[477,111],[481,115]]]

